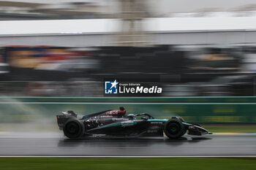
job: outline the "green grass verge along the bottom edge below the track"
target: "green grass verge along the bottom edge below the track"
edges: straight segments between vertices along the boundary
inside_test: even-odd
[[[249,170],[255,166],[256,158],[0,158],[3,170]]]

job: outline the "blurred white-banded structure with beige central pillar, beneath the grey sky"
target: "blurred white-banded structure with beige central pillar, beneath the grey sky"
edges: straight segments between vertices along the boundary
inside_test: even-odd
[[[98,47],[256,43],[254,4],[229,11],[198,9],[156,18],[149,14],[146,2],[148,1],[120,0],[119,15],[111,16],[114,12],[111,14],[107,7],[90,2],[42,4],[38,1],[1,1],[0,46]]]

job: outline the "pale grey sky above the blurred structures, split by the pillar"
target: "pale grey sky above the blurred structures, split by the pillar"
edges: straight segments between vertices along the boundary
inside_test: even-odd
[[[85,0],[5,0],[5,1],[26,1],[38,3],[59,3],[68,1],[85,1]],[[108,5],[110,9],[116,9],[118,0],[86,0],[96,2],[101,5]],[[218,8],[222,11],[241,7],[246,4],[256,4],[255,0],[147,0],[150,10],[158,14],[168,12],[193,12],[203,8]]]

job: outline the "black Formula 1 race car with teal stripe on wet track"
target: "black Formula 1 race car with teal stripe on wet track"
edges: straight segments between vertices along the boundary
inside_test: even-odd
[[[181,117],[155,119],[147,113],[125,115],[124,107],[119,110],[106,110],[78,119],[73,111],[57,115],[59,129],[70,139],[82,136],[163,136],[170,139],[183,136],[187,131],[191,135],[211,134],[200,125],[186,123]]]

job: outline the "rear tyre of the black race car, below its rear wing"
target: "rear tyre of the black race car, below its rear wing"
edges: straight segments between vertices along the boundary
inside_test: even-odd
[[[65,136],[67,136],[70,139],[79,139],[80,137],[83,136],[84,131],[85,127],[83,123],[76,118],[67,120],[67,122],[64,123],[63,126],[63,132]]]

